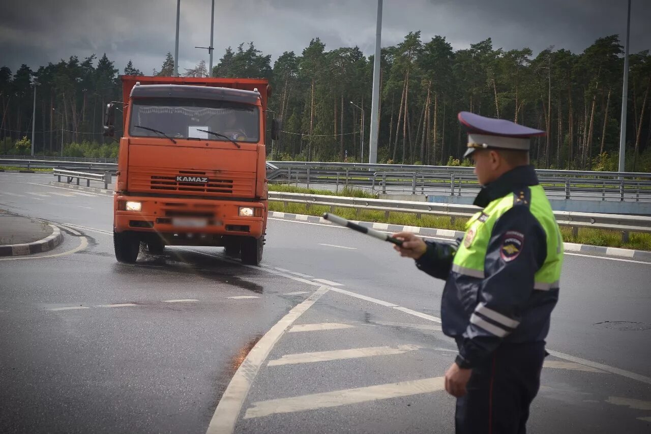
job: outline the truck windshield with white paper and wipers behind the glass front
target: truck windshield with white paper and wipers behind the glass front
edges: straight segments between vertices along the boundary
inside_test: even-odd
[[[133,100],[129,134],[132,137],[160,137],[158,132],[162,132],[181,139],[257,143],[260,139],[259,117],[258,107],[250,104],[188,98],[138,98]]]

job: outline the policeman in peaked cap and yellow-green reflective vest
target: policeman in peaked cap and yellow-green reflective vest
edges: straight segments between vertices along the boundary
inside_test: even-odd
[[[456,433],[525,433],[540,386],[549,317],[559,297],[561,232],[529,165],[533,136],[545,133],[462,111],[464,157],[475,162],[482,207],[456,243],[411,233],[396,250],[446,280],[443,332],[459,354],[445,373],[456,396]]]

